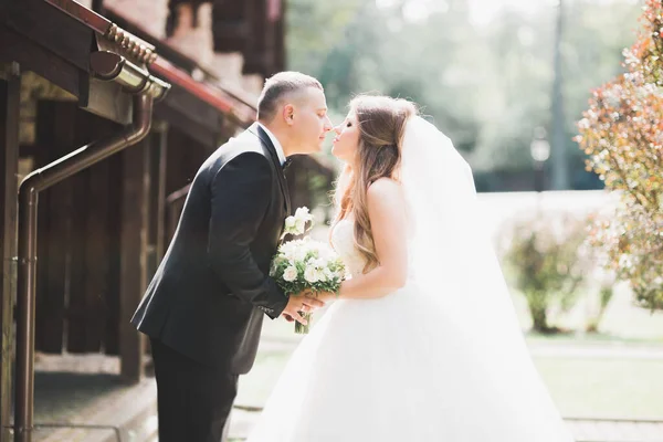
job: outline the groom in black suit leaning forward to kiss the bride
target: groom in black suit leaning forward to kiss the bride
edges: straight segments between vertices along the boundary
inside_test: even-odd
[[[301,320],[323,303],[286,296],[267,276],[285,218],[286,157],[320,150],[332,122],[320,83],[265,82],[257,123],[200,167],[175,236],[131,318],[150,338],[159,442],[219,442],[249,372],[263,314]]]

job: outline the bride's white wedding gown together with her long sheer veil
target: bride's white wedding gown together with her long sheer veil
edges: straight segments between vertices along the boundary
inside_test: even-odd
[[[455,201],[440,188],[434,196],[423,194],[425,188],[408,192],[406,183],[422,178],[427,160],[444,160],[448,179],[466,172],[453,146],[425,125],[414,120],[417,131],[409,128],[403,145],[417,146],[423,161],[413,167],[414,151],[404,150],[412,229],[394,234],[409,238],[408,283],[381,298],[336,301],[295,349],[248,442],[572,441],[528,355],[494,256],[481,252],[467,218],[450,224],[450,213],[460,212],[448,211],[438,230],[427,224],[434,219],[431,198]],[[427,158],[432,150],[420,151],[427,144],[442,144],[449,157]],[[463,191],[439,175],[430,179],[450,186],[454,197]],[[463,217],[472,213],[473,185],[465,191],[457,201]],[[428,198],[425,204],[412,206],[415,196]],[[352,221],[340,221],[332,242],[359,275],[364,261],[352,230]],[[456,250],[457,241],[471,253]]]

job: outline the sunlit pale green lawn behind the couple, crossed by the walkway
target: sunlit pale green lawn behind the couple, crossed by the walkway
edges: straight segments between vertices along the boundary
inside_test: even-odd
[[[573,348],[663,347],[663,312],[651,314],[635,307],[625,287],[617,291],[599,334],[570,333],[541,336],[530,327],[524,298],[514,294],[520,326],[530,347]],[[582,302],[565,315],[552,315],[551,324],[581,330],[589,307]],[[322,312],[324,314],[324,312]],[[320,313],[316,314],[317,317]],[[291,350],[302,338],[285,320],[265,320],[264,347],[253,370],[241,378],[236,403],[262,406],[275,385]],[[278,343],[276,347],[266,345]],[[281,346],[281,347],[280,347]],[[663,419],[663,359],[590,358],[586,356],[537,356],[535,364],[565,417]]]

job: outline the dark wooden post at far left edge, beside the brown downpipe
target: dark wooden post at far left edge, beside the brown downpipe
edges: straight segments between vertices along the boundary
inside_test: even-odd
[[[12,359],[13,359],[13,307],[17,264],[17,194],[19,173],[19,112],[21,103],[21,73],[17,63],[0,65],[0,249],[2,251],[2,301],[0,303],[0,442],[11,440]]]

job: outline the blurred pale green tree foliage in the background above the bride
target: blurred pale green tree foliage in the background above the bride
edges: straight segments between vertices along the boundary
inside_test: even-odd
[[[408,13],[424,3],[424,14]],[[601,182],[585,170],[585,155],[572,141],[575,123],[590,87],[622,72],[621,51],[632,41],[639,7],[573,0],[565,10],[564,137],[572,152],[571,186],[596,188]],[[477,24],[461,0],[288,0],[287,24],[288,69],[318,77],[336,115],[345,115],[360,92],[411,98],[477,173],[532,170],[533,131],[550,126],[550,6],[532,14],[504,7]]]

